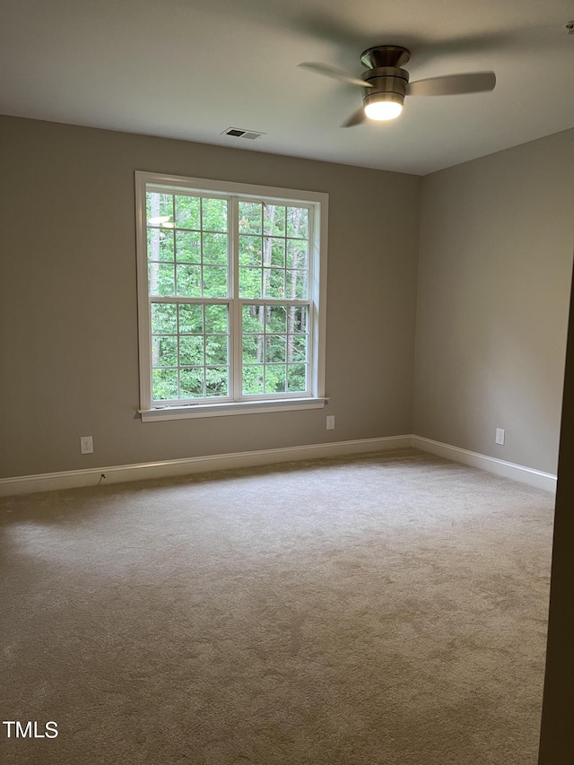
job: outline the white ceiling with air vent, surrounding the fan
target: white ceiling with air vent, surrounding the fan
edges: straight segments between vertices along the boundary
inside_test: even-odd
[[[420,175],[574,126],[572,0],[3,0],[0,20],[8,115]],[[411,50],[412,81],[496,88],[341,128],[361,90],[297,65],[360,75],[379,44]]]

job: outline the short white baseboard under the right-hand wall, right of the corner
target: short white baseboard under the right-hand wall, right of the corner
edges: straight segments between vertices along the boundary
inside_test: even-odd
[[[431,454],[436,454],[437,456],[443,456],[445,459],[453,460],[453,462],[462,462],[464,465],[479,467],[481,470],[488,470],[489,473],[503,475],[505,478],[512,478],[514,481],[528,483],[537,489],[556,491],[557,476],[551,473],[543,473],[540,470],[534,470],[532,467],[515,465],[512,462],[505,462],[493,456],[451,447],[439,441],[423,439],[422,436],[412,436],[411,445],[413,448],[431,452]]]

